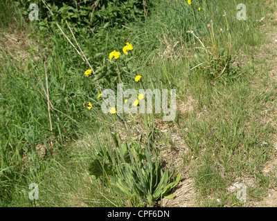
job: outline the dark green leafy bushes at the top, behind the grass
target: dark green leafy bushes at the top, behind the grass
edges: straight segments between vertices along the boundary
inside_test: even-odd
[[[49,27],[55,29],[55,21],[61,22],[65,27],[64,21],[67,20],[69,25],[74,27],[76,35],[82,35],[84,38],[90,36],[91,30],[95,34],[102,26],[105,28],[120,27],[132,21],[142,21],[145,17],[143,1],[139,0],[80,2],[45,0],[54,17],[48,13],[41,0],[21,0],[20,2],[25,8],[28,8],[30,3],[36,3],[39,6],[40,30],[47,31]],[[28,16],[30,11],[26,10],[25,15]]]

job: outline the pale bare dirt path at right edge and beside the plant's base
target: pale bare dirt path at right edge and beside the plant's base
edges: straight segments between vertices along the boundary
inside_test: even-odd
[[[254,60],[256,61],[266,61],[266,65],[270,67],[269,75],[269,83],[267,90],[274,91],[277,95],[277,11],[274,13],[274,21],[269,21],[263,18],[261,21],[264,25],[262,25],[262,32],[265,33],[266,43],[257,48],[256,55],[253,55]],[[262,66],[259,67],[260,70]],[[255,83],[253,83],[255,84]],[[270,144],[274,146],[274,153],[271,157],[271,160],[267,162],[265,168],[263,169],[263,173],[268,177],[273,177],[269,182],[269,189],[267,191],[267,196],[258,202],[248,202],[246,206],[265,206],[265,207],[275,207],[277,206],[277,182],[274,180],[274,177],[277,177],[277,111],[272,111],[272,106],[277,107],[277,99],[274,100],[271,105],[269,105],[269,111],[265,111],[265,120],[269,122],[271,126],[276,128],[275,134],[272,135]],[[188,108],[182,108],[185,111]],[[181,111],[180,111],[181,112]],[[186,149],[186,145],[179,145],[179,148]],[[176,157],[176,156],[175,156]],[[184,172],[184,171],[183,171]],[[172,207],[188,207],[188,206],[197,206],[197,202],[195,202],[195,190],[194,190],[194,180],[188,173],[183,173],[182,180],[180,184],[177,186],[177,189],[173,193],[176,195],[176,198],[172,200],[163,200],[163,206],[172,206]],[[253,180],[249,179],[245,181],[247,186],[253,186]]]

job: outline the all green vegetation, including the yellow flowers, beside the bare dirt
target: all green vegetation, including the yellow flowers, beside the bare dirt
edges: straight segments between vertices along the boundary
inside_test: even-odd
[[[245,21],[237,3],[2,0],[0,206],[163,206],[187,176],[190,206],[261,200],[276,88],[252,54],[276,3],[244,0]],[[176,89],[177,117],[102,113],[118,83],[136,90],[130,106],[148,102],[139,89]],[[247,179],[242,203],[228,188]]]

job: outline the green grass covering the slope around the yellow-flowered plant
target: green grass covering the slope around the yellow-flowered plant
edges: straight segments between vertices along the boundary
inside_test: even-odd
[[[114,88],[118,82],[115,64],[108,60],[109,52],[114,49],[121,52],[125,42],[130,41],[145,88],[175,88],[177,99],[185,103],[187,97],[192,97],[194,111],[179,113],[172,124],[179,126],[182,140],[189,148],[184,156],[184,168],[189,169],[195,180],[195,206],[245,206],[227,193],[226,188],[238,177],[255,178],[256,187],[248,189],[248,195],[259,200],[269,185],[269,177],[263,175],[262,168],[272,155],[270,137],[274,128],[265,122],[263,111],[269,102],[274,102],[275,94],[267,88],[269,79],[264,79],[268,70],[256,71],[266,61],[249,64],[252,53],[249,47],[265,43],[260,37],[262,24],[256,20],[274,12],[275,6],[258,0],[240,2],[247,6],[248,19],[238,21],[236,1],[194,2],[192,9],[186,1],[153,1],[145,20],[125,23],[129,28],[100,27],[96,36],[88,32],[87,39],[82,35],[77,39],[95,68],[102,89]],[[162,180],[157,171],[168,169],[161,162],[171,165],[163,184],[177,175],[177,168],[171,162],[172,152],[164,156],[164,148],[168,150],[175,145],[170,135],[175,133],[172,124],[167,124],[166,134],[154,123],[162,115],[126,116],[129,127],[124,129],[115,116],[98,113],[98,91],[94,82],[84,77],[88,67],[60,30],[44,30],[37,37],[37,24],[27,22],[24,8],[18,10],[16,6],[17,3],[8,1],[0,3],[2,35],[12,28],[26,30],[39,49],[35,52],[33,45],[22,48],[28,57],[16,60],[16,56],[9,54],[9,48],[0,44],[3,57],[0,61],[0,206],[154,205],[159,200],[153,198],[154,192],[161,187],[157,180]],[[238,70],[231,66],[229,75],[226,72],[211,84],[215,76],[211,78],[207,70],[217,70],[218,66],[209,63],[211,60],[204,50],[195,48],[201,45],[187,31],[193,30],[205,46],[211,46],[207,24],[212,19],[217,49],[223,48],[220,28],[228,36],[222,17],[224,11],[233,42],[232,61],[244,59],[244,66]],[[73,41],[69,30],[66,34]],[[32,51],[39,59],[34,59]],[[53,104],[51,119],[44,93],[44,60]],[[214,66],[192,69],[203,62]],[[139,90],[140,86],[134,82],[133,60],[126,56],[118,61],[118,66],[125,89]],[[235,74],[230,74],[233,70]],[[258,79],[258,86],[251,84],[254,78]],[[87,110],[82,106],[84,101],[95,104],[96,108]],[[120,137],[119,145],[115,135]],[[142,153],[132,149],[131,142],[136,142]],[[129,155],[131,163],[122,155],[120,144],[129,145],[128,154],[124,153]],[[115,149],[119,152],[114,152]],[[138,155],[143,163],[136,161]],[[114,170],[109,171],[105,166],[102,170],[100,166],[102,175],[96,179],[89,174],[93,160],[99,160],[102,166],[108,162],[107,166]],[[145,178],[145,173],[149,177]],[[118,189],[120,182],[114,181],[118,179],[127,184],[123,184],[125,191]],[[31,183],[39,184],[39,200],[28,199]],[[221,204],[217,202],[219,198]]]

